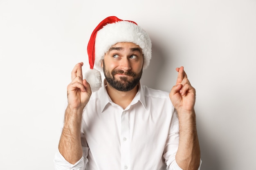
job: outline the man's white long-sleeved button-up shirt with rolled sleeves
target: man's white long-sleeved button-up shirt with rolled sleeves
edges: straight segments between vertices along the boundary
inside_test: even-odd
[[[83,157],[73,165],[56,152],[56,170],[182,170],[175,161],[179,121],[169,93],[141,84],[125,109],[112,102],[104,84],[93,93],[81,141]]]

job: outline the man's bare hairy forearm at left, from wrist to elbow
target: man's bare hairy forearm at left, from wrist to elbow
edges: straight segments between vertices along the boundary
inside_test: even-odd
[[[67,106],[64,126],[58,149],[63,157],[74,164],[83,156],[81,146],[81,119],[83,110],[72,110]]]

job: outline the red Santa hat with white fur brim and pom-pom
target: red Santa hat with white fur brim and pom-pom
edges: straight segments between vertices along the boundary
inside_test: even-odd
[[[85,79],[90,84],[92,91],[97,91],[101,87],[99,71],[102,71],[101,62],[105,53],[118,42],[137,44],[144,57],[143,69],[148,67],[152,46],[148,34],[136,22],[110,16],[101,21],[94,29],[87,46],[90,71],[85,73]]]

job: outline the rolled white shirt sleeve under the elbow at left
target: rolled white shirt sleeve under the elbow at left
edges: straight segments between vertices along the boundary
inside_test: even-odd
[[[59,152],[56,152],[54,157],[54,166],[55,170],[84,170],[84,161],[83,157],[75,164],[69,163]]]

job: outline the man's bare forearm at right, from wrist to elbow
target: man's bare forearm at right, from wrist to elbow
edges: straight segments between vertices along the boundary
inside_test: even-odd
[[[180,142],[176,162],[183,170],[197,170],[200,164],[200,147],[195,122],[195,111],[178,112]]]

